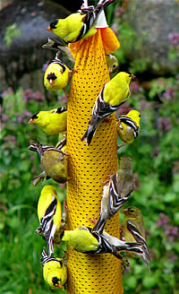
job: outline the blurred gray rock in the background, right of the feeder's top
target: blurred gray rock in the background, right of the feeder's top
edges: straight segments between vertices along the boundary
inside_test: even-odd
[[[179,36],[179,6],[175,0],[133,0],[123,14],[131,36],[122,38],[124,57],[137,72],[173,75],[179,72],[178,46],[171,34]],[[123,35],[122,27],[122,35]],[[178,37],[179,38],[179,37]],[[119,30],[120,39],[120,30]],[[124,40],[124,49],[123,49]]]

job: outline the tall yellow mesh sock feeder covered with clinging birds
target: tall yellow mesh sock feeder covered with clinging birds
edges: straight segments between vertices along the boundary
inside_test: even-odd
[[[114,32],[98,29],[89,39],[70,44],[75,58],[67,113],[67,229],[93,227],[98,220],[104,182],[117,170],[115,114],[98,125],[90,146],[81,142],[99,91],[110,77],[106,56],[119,48]],[[119,238],[119,214],[107,220],[107,233]],[[123,293],[120,260],[110,254],[92,255],[68,246],[68,294]]]

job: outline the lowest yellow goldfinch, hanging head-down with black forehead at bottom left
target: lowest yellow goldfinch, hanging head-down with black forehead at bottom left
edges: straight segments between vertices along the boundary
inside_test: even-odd
[[[43,248],[41,254],[41,263],[43,266],[43,277],[47,285],[52,289],[64,290],[64,284],[67,281],[67,268],[60,258],[49,257]]]

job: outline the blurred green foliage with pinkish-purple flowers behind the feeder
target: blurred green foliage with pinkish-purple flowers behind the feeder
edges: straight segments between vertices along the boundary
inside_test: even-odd
[[[109,23],[114,17],[114,7],[115,4],[107,10]],[[123,13],[123,9],[118,13]],[[120,23],[117,29],[123,45],[115,53],[120,65],[132,73],[144,72],[149,60],[133,60],[128,68],[124,58],[125,46],[134,44],[134,31]],[[126,114],[129,108],[141,111],[140,135],[134,143],[119,149],[118,157],[125,154],[132,158],[136,189],[124,207],[133,205],[141,209],[151,257],[150,274],[141,259],[130,258],[130,268],[123,273],[124,293],[128,294],[179,293],[178,78],[160,77],[144,82],[141,75],[131,83],[131,98],[117,114]],[[30,89],[16,92],[7,89],[1,94],[0,290],[3,294],[53,292],[42,278],[40,255],[45,244],[34,235],[38,227],[37,203],[42,186],[53,184],[61,201],[65,187],[51,179],[34,187],[30,180],[38,175],[40,165],[38,154],[28,151],[30,139],[36,142],[38,138],[40,143],[52,145],[57,142],[57,135],[47,136],[35,125],[28,125],[31,115],[38,110],[64,106],[62,92],[49,95],[45,97]],[[120,214],[120,220],[123,222],[124,215]],[[62,255],[59,248],[55,247],[55,255]]]

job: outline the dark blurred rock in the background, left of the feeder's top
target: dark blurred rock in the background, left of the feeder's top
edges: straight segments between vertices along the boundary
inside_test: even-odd
[[[41,48],[47,42],[47,37],[55,37],[46,29],[56,18],[64,18],[69,14],[63,6],[50,0],[14,0],[0,12],[3,85],[16,89],[24,73],[41,68],[55,56],[55,52]],[[39,79],[42,78],[43,73]],[[4,91],[4,87],[1,87],[1,91]]]

